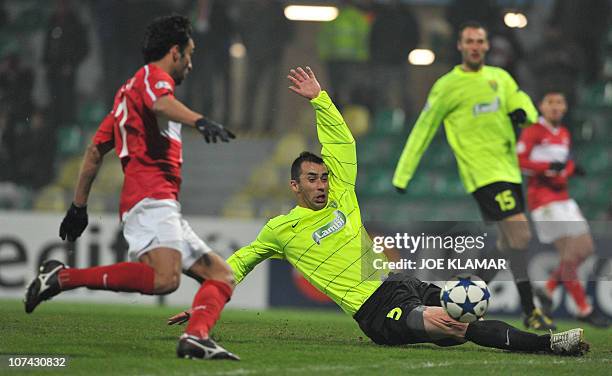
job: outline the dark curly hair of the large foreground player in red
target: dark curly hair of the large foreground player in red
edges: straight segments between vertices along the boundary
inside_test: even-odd
[[[191,23],[187,17],[173,14],[154,19],[147,26],[142,44],[145,64],[163,58],[175,44],[178,44],[181,53],[185,51],[191,32]]]

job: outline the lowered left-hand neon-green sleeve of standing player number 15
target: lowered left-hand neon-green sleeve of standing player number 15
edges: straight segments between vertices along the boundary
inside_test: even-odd
[[[434,84],[425,108],[421,111],[416,124],[408,136],[402,155],[397,162],[393,175],[393,186],[399,191],[404,192],[408,182],[412,179],[419,161],[431,143],[436,130],[444,120],[449,111],[449,106],[445,103],[445,93],[442,90],[440,81]]]

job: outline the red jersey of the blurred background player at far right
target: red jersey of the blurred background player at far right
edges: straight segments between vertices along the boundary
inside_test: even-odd
[[[517,152],[521,171],[528,176],[527,204],[529,210],[553,201],[569,199],[568,177],[574,172],[569,159],[571,136],[564,126],[553,127],[540,118],[538,123],[521,132]],[[566,162],[561,173],[549,169],[551,162]]]

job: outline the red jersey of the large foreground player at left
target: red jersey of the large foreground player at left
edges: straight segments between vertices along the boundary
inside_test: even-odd
[[[181,124],[157,119],[153,104],[174,95],[174,80],[153,64],[140,68],[115,95],[113,110],[93,137],[95,145],[113,143],[123,167],[119,213],[140,200],[178,199],[181,185]]]

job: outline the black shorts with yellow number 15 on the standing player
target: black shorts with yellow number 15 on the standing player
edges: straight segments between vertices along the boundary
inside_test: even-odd
[[[472,195],[485,221],[501,221],[525,212],[523,187],[520,184],[499,181],[478,188]]]

